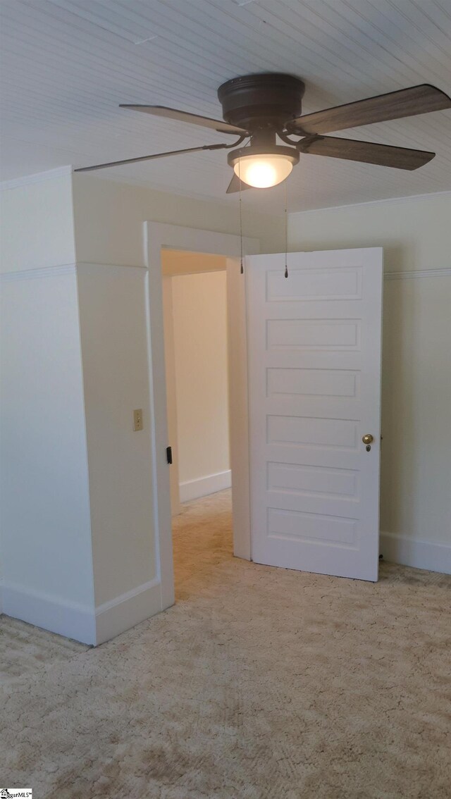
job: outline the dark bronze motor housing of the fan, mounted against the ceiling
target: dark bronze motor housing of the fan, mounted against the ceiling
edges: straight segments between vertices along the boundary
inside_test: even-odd
[[[299,78],[272,73],[232,78],[219,87],[218,98],[226,122],[252,132],[281,129],[285,122],[301,116],[304,92]]]

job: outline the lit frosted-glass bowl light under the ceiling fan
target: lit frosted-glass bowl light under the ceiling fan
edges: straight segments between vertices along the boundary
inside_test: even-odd
[[[229,165],[240,180],[254,189],[269,189],[285,181],[299,153],[293,147],[241,147],[228,156]]]

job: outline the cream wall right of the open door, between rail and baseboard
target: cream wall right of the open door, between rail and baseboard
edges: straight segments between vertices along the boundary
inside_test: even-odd
[[[451,270],[385,280],[384,313],[381,530],[451,548]]]

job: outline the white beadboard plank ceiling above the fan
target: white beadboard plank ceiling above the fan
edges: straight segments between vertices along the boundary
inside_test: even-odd
[[[227,141],[118,104],[221,118],[218,85],[241,74],[302,78],[303,113],[424,82],[451,93],[451,0],[2,0],[0,8],[2,180]],[[437,157],[402,172],[301,156],[287,181],[289,210],[451,189],[451,111],[341,135]],[[221,151],[94,174],[237,202],[225,195],[231,170]],[[243,202],[280,213],[283,189],[254,189]]]

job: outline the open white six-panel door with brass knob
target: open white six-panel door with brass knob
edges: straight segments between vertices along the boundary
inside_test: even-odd
[[[288,265],[245,264],[252,559],[377,580],[382,250]]]

